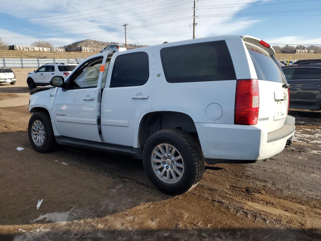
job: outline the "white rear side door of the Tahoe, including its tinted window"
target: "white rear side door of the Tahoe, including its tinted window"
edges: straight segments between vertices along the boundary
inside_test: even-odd
[[[114,53],[101,100],[101,131],[105,142],[139,147],[142,117],[151,112],[153,52]]]

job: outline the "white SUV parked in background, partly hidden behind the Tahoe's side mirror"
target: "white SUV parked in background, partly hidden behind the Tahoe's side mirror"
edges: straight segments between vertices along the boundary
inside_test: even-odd
[[[67,77],[77,64],[65,63],[48,63],[39,67],[33,72],[29,72],[27,76],[27,84],[29,89],[36,88],[37,86],[49,85],[49,79],[52,76]]]

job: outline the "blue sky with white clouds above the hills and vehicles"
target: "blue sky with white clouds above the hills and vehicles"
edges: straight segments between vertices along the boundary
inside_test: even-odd
[[[63,46],[92,39],[156,45],[193,38],[193,0],[0,0],[0,38]],[[270,44],[320,44],[321,0],[198,0],[196,38],[252,35]]]

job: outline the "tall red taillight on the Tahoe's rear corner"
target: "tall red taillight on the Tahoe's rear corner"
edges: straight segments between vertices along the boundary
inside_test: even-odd
[[[240,79],[236,82],[236,125],[255,125],[259,115],[259,84],[257,79]]]

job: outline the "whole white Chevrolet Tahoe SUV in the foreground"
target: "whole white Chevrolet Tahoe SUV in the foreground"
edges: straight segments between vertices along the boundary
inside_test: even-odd
[[[289,85],[274,53],[233,35],[96,54],[65,82],[30,91],[30,144],[143,159],[163,192],[187,192],[205,162],[255,163],[291,145]]]

